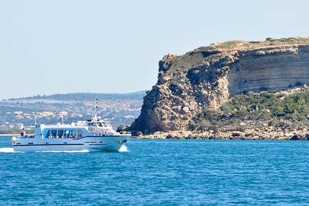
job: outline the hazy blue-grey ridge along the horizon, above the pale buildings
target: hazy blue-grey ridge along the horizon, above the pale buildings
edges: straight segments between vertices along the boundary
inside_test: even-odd
[[[143,100],[146,91],[137,91],[133,93],[66,93],[66,94],[54,94],[54,95],[34,95],[26,98],[12,98],[13,100],[76,100],[87,101],[94,100]]]

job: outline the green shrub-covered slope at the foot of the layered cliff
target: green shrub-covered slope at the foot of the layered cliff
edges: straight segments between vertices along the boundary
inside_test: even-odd
[[[218,110],[204,108],[194,119],[193,129],[205,130],[220,122],[239,124],[244,120],[269,121],[277,124],[282,120],[308,121],[309,91],[283,95],[262,91],[235,95]]]

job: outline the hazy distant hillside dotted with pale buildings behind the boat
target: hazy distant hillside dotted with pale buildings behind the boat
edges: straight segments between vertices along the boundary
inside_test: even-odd
[[[99,113],[114,127],[131,124],[138,117],[146,91],[133,93],[67,93],[34,95],[0,101],[0,126],[8,128],[23,123],[65,123],[89,119],[93,115],[95,98],[99,100]]]

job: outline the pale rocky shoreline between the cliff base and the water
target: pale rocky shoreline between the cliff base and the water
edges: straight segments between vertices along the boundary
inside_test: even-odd
[[[290,123],[290,124],[288,124]],[[240,123],[240,130],[225,130],[214,128],[205,132],[190,130],[174,130],[167,133],[156,132],[150,135],[133,136],[135,139],[270,139],[270,140],[309,140],[309,126],[284,122],[282,126],[269,126],[269,122],[246,121]],[[245,128],[245,126],[248,126]],[[259,125],[259,127],[252,127]]]

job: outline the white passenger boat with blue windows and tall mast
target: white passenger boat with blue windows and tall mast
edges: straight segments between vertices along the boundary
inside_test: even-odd
[[[93,118],[76,124],[36,125],[35,135],[12,137],[14,151],[119,151],[130,133],[117,133],[111,124],[98,117],[98,100]]]

